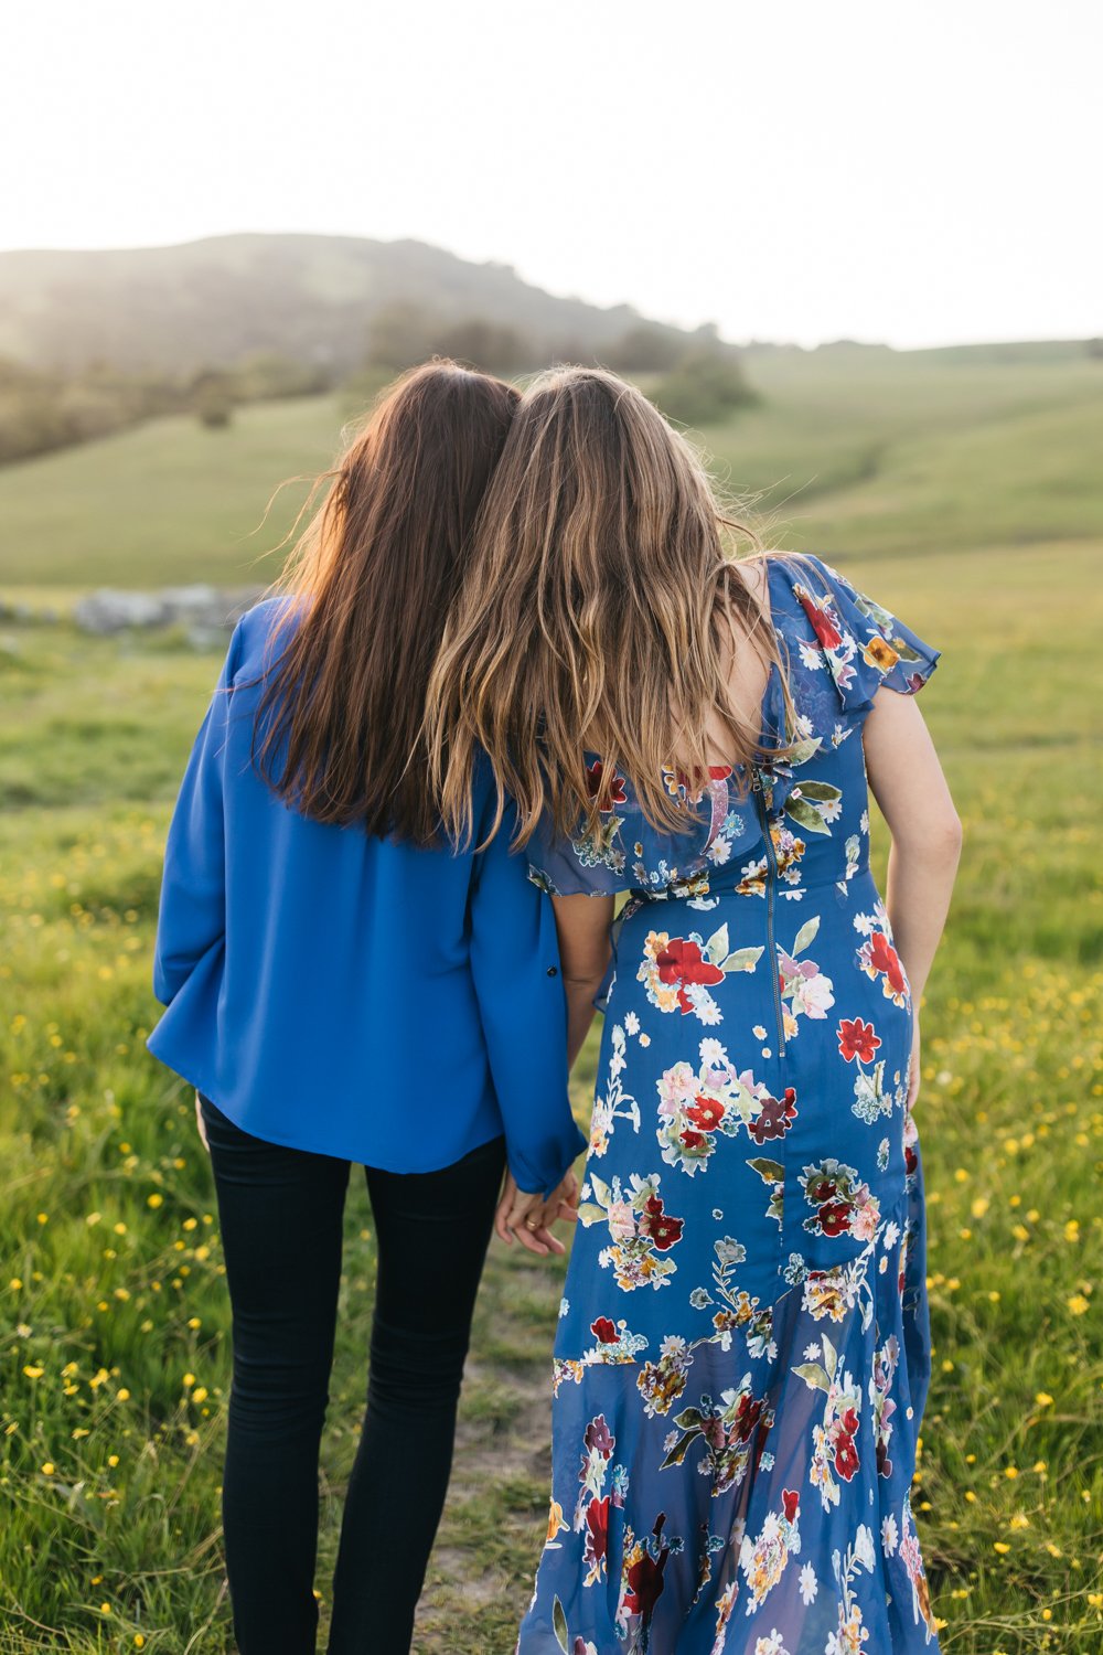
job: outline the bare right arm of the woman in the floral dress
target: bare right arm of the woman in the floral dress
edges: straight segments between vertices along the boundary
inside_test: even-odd
[[[880,688],[862,735],[870,791],[891,834],[888,922],[918,1008],[954,889],[961,821],[913,695]]]

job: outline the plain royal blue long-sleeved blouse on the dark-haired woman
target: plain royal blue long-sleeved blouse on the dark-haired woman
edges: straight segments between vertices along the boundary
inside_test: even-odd
[[[585,1147],[549,899],[511,819],[483,852],[316,823],[253,765],[279,601],[238,622],[177,799],[149,1049],[236,1125],[390,1172],[504,1132],[526,1192]],[[476,775],[478,844],[494,808]]]

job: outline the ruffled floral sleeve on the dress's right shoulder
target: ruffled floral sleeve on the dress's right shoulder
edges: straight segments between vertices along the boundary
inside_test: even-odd
[[[814,571],[794,581],[838,698],[847,712],[868,712],[881,685],[898,695],[914,695],[934,672],[941,650],[867,597],[820,558],[800,559]]]

